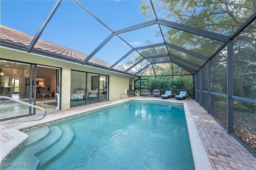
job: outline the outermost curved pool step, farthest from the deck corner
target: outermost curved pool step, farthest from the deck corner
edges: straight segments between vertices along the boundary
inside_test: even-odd
[[[40,160],[40,166],[46,165],[55,156],[62,152],[72,141],[74,137],[73,130],[68,126],[61,126],[60,128],[62,129],[62,135],[60,138],[58,138],[55,144],[52,144],[47,149],[44,149],[43,152],[39,151],[35,153],[36,158]]]

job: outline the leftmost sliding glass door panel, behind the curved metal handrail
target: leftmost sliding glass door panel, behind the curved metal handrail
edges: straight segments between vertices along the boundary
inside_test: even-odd
[[[13,99],[29,103],[30,64],[0,60],[0,65],[0,96],[11,97]],[[34,68],[32,69],[34,72]],[[16,93],[14,93],[15,91]],[[9,99],[0,100],[0,105],[1,121],[20,116],[28,116],[31,114],[27,105],[23,105]]]

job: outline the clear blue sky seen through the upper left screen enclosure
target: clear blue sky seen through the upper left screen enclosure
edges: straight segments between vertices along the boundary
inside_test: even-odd
[[[140,0],[78,0],[113,31],[144,22],[140,14]],[[55,0],[0,0],[1,20],[3,26],[36,35],[36,32],[48,16]],[[155,28],[142,28],[122,34],[122,38],[134,47],[159,42]],[[90,54],[102,43],[111,31],[98,22],[72,0],[64,0],[50,23],[40,36],[41,39]],[[153,36],[152,36],[153,35]],[[120,38],[112,38],[94,56],[109,63],[116,62],[130,51]]]

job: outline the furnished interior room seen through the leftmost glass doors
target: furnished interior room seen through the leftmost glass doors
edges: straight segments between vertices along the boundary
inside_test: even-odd
[[[26,100],[30,96],[30,65],[1,60],[0,95]],[[34,66],[33,71],[34,71]],[[33,75],[34,76],[34,75]],[[32,80],[34,84],[34,80]],[[33,88],[32,88],[33,89]],[[45,89],[40,93],[40,89]],[[36,67],[36,101],[55,99],[56,69]],[[32,93],[32,97],[34,97]]]

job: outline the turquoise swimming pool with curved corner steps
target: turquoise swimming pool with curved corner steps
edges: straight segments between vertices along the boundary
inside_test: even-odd
[[[6,163],[26,169],[39,161],[38,169],[194,169],[182,105],[132,102],[36,130],[42,138]],[[22,156],[25,149],[32,156]]]

